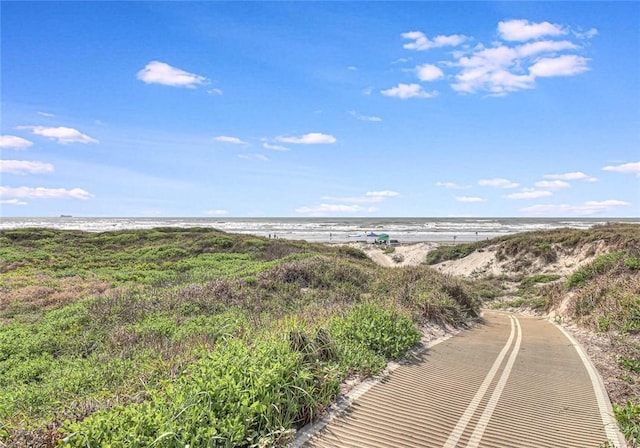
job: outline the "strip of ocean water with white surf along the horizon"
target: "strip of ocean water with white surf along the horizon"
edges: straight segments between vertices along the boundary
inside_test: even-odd
[[[372,241],[386,233],[401,243],[470,242],[533,230],[586,229],[640,218],[1,218],[0,230],[25,227],[105,232],[154,227],[211,227],[231,233],[313,242]]]

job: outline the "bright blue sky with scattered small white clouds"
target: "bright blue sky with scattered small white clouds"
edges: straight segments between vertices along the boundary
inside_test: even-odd
[[[640,3],[11,2],[2,216],[640,216]]]

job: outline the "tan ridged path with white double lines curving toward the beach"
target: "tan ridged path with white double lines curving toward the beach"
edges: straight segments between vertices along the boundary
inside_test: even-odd
[[[304,446],[624,446],[599,377],[563,331],[484,317],[394,370]]]

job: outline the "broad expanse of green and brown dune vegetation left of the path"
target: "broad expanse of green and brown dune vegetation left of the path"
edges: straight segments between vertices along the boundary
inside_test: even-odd
[[[10,446],[282,445],[417,325],[479,308],[427,267],[197,228],[3,231],[0,291]]]

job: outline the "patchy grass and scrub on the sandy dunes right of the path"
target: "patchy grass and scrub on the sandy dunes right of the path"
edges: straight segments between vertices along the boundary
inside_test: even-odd
[[[461,258],[483,251],[486,246],[495,251],[497,261],[518,273],[475,282],[477,294],[492,301],[489,306],[523,307],[538,312],[563,309],[563,318],[607,333],[616,341],[612,350],[624,372],[619,380],[627,386],[626,392],[615,394],[615,415],[630,446],[640,446],[640,404],[634,393],[640,384],[640,349],[633,342],[640,332],[640,226],[608,224],[585,230],[556,229],[443,246],[428,255],[427,263]],[[557,274],[523,276],[524,272],[548,266],[563,254],[594,258],[566,278]],[[501,296],[512,298],[494,301]]]

